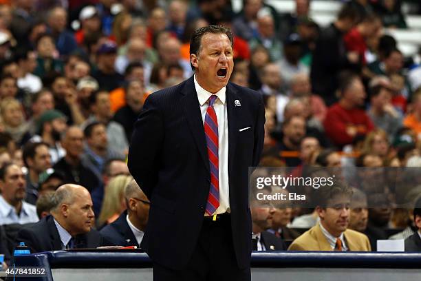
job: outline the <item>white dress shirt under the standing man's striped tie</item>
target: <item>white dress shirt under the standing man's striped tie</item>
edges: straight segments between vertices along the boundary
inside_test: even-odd
[[[208,99],[213,94],[204,90],[196,81],[195,88],[197,98],[199,99],[200,112],[202,113],[202,121],[206,116],[208,109]],[[213,108],[217,115],[218,121],[218,159],[219,159],[219,207],[215,214],[223,214],[230,212],[230,189],[228,185],[228,114],[226,110],[226,87],[223,87],[215,94],[218,98],[213,103]],[[207,214],[205,213],[205,216]]]

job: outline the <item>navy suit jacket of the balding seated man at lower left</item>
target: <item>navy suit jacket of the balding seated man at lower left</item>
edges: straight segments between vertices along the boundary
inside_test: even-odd
[[[75,239],[74,248],[78,249],[109,245],[109,242],[103,239],[95,229],[91,229],[86,234],[77,235]],[[31,253],[62,249],[60,235],[54,224],[54,218],[51,215],[42,218],[30,227],[19,230],[15,241],[17,244],[19,242],[25,242],[25,245],[30,248]]]

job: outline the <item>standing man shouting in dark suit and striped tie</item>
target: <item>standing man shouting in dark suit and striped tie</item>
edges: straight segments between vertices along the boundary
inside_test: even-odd
[[[197,29],[190,79],[148,96],[128,167],[151,200],[142,248],[153,280],[251,280],[248,167],[259,164],[263,98],[229,82],[233,34]]]

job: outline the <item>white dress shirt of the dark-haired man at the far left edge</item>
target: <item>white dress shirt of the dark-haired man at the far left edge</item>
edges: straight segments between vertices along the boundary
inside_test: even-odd
[[[39,218],[34,205],[22,201],[21,214],[17,214],[16,209],[0,195],[0,225],[10,225],[12,223],[23,225],[37,221],[39,221]]]

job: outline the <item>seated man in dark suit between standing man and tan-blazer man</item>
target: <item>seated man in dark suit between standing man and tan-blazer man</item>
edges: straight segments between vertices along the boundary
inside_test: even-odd
[[[281,238],[266,231],[274,213],[273,207],[251,207],[252,216],[252,251],[285,251],[286,246]]]

